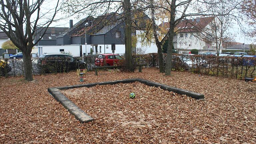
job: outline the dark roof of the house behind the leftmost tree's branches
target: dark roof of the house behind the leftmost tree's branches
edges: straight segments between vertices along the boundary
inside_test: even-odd
[[[57,36],[67,30],[67,27],[48,27],[46,33],[44,34],[42,40],[56,40]],[[45,31],[45,28],[37,27],[38,36],[41,36]]]

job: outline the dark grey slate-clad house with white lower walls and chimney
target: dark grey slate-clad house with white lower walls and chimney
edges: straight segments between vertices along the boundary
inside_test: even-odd
[[[73,56],[82,56],[91,52],[93,54],[112,53],[112,48],[115,48],[115,53],[124,53],[125,23],[121,15],[112,12],[97,18],[88,16],[74,25],[73,20],[70,20],[69,28],[57,36],[57,46],[44,46],[39,51],[41,53],[70,52]],[[138,22],[139,19],[133,22],[132,35],[136,35],[137,30],[143,30],[143,26],[146,27],[147,24],[146,20],[150,20],[145,13],[142,13],[140,22]],[[136,27],[138,25],[139,27]]]

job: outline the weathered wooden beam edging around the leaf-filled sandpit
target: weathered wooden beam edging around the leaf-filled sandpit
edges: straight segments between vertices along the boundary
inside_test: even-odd
[[[63,86],[63,87],[53,87],[48,88],[48,92],[58,101],[60,102],[71,114],[73,114],[77,120],[79,120],[81,123],[87,123],[91,122],[94,119],[89,116],[87,113],[85,113],[83,110],[81,110],[78,106],[76,106],[72,101],[70,101],[65,95],[63,95],[60,90],[67,90],[72,88],[79,88],[79,87],[93,87],[96,85],[114,85],[118,83],[133,83],[133,82],[140,82],[143,84],[146,84],[148,86],[155,86],[160,87],[161,89],[172,91],[178,94],[185,94],[189,97],[202,100],[204,99],[204,95],[201,93],[196,93],[193,91],[188,91],[176,87],[172,87],[169,85],[140,79],[140,78],[134,78],[134,79],[124,79],[124,80],[116,80],[116,81],[106,81],[106,82],[97,82],[97,83],[88,83],[88,84],[80,84],[80,85],[69,85],[69,86]]]

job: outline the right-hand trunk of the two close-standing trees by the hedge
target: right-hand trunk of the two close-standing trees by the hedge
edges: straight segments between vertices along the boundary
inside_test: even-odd
[[[170,32],[169,32],[169,36],[168,36],[168,47],[167,47],[165,75],[171,75],[173,36],[174,36],[174,19],[171,19],[171,21],[170,21]]]

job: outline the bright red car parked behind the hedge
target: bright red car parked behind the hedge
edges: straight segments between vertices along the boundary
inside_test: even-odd
[[[115,64],[117,64],[118,61],[122,59],[122,57],[118,54],[100,54],[95,59],[95,66],[112,66],[114,63],[114,58]]]

